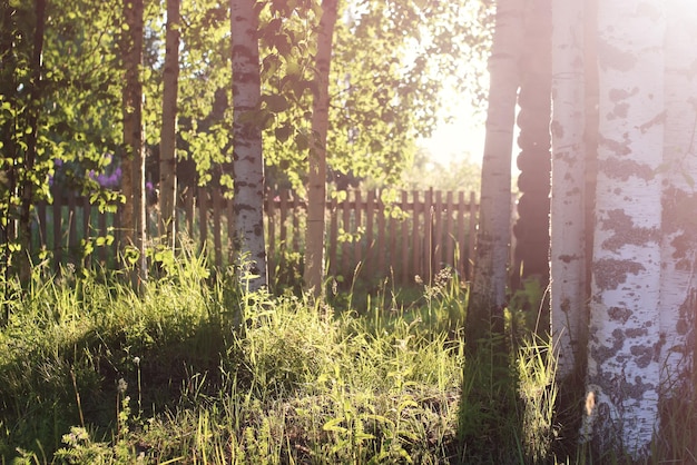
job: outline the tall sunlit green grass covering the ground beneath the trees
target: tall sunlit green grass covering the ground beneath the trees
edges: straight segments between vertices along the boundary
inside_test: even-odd
[[[337,310],[156,258],[140,294],[126,275],[41,266],[0,286],[2,464],[626,463],[565,436],[537,316],[509,308],[505,364],[467,355],[467,285],[448,270],[335,296]],[[673,403],[655,457],[689,463],[694,402]]]

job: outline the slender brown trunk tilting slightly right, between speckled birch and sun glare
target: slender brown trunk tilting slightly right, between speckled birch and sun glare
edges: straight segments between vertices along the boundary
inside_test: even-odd
[[[315,297],[323,294],[324,271],[324,210],[326,199],[326,137],[330,126],[330,66],[332,38],[336,23],[337,0],[322,2],[322,19],[317,33],[315,81],[317,93],[313,101],[307,174],[307,229],[305,230],[305,287]]]

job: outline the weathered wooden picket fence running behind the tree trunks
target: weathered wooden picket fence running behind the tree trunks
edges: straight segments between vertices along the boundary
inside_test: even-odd
[[[278,191],[266,199],[266,244],[272,280],[298,265],[304,250],[305,210],[302,199]],[[401,191],[390,204],[375,191],[348,191],[346,198],[326,204],[326,266],[331,276],[350,281],[392,277],[411,284],[415,276],[428,281],[451,267],[471,276],[478,205],[474,194]],[[155,234],[156,215],[149,229]],[[230,257],[232,202],[217,190],[186,192],[180,201],[178,230],[198,249],[205,248],[217,267]],[[99,260],[116,266],[119,241],[117,214],[99,212],[87,198],[55,197],[52,205],[36,209],[32,244],[53,253],[56,263],[86,265]],[[101,239],[99,239],[101,237]],[[108,238],[108,239],[106,239]],[[86,245],[92,249],[85,254]]]

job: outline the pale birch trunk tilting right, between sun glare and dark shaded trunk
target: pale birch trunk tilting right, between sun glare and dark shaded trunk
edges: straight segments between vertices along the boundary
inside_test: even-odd
[[[478,339],[503,330],[510,243],[511,155],[523,34],[522,3],[501,0],[497,4],[495,31],[489,58],[491,80],[474,278],[467,313],[468,350],[477,349]]]

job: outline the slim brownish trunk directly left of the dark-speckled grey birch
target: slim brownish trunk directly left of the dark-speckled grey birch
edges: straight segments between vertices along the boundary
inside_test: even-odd
[[[167,0],[165,70],[163,77],[163,127],[159,144],[160,235],[174,250],[177,212],[177,91],[179,78],[179,0]]]

